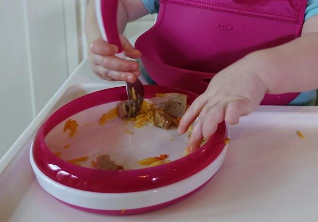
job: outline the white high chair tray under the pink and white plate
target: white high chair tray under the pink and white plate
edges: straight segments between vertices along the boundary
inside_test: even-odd
[[[100,81],[84,61],[0,160],[0,222],[268,222],[317,221],[318,108],[260,107],[230,128],[224,164],[199,192],[163,210],[108,217],[67,207],[35,180],[29,149],[43,119],[93,91]],[[299,137],[300,130],[306,139]]]

